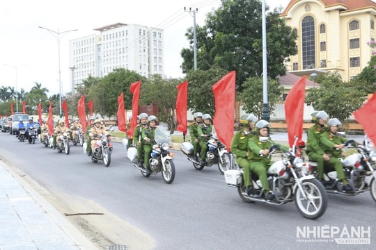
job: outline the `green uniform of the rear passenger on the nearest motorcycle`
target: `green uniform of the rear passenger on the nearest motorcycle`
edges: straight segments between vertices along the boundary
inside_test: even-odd
[[[235,133],[231,141],[231,152],[236,156],[237,165],[240,165],[243,169],[244,185],[246,188],[251,186],[251,168],[249,167],[249,156],[246,156],[246,152],[248,152],[248,140],[253,136],[251,131],[246,133],[242,128],[239,132]]]

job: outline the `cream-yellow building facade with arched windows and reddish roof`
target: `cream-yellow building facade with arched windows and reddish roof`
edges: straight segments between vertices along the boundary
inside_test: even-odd
[[[368,65],[375,40],[376,3],[370,0],[291,0],[281,17],[297,32],[288,72],[339,72],[350,81]]]

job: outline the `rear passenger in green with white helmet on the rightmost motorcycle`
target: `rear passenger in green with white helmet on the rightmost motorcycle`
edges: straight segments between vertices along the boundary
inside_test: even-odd
[[[318,178],[320,181],[324,179],[324,160],[329,160],[329,156],[320,146],[320,135],[325,131],[325,125],[329,115],[321,110],[311,114],[312,122],[315,124],[308,128],[307,131],[307,154],[309,160],[318,163]]]

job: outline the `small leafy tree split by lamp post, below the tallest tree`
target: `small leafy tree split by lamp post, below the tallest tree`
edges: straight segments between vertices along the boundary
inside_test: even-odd
[[[243,110],[253,113],[257,117],[263,115],[263,78],[250,77],[243,83],[243,92],[240,93],[240,101],[243,103]],[[275,103],[282,101],[283,86],[278,80],[268,79],[267,81],[267,101],[269,112],[273,113]]]

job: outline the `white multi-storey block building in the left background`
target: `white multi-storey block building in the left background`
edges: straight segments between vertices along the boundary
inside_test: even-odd
[[[81,84],[88,76],[105,76],[116,68],[133,70],[146,77],[164,74],[162,29],[117,23],[94,30],[100,34],[70,40],[74,85]]]

